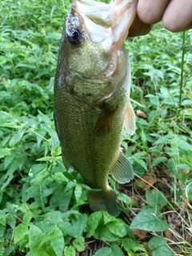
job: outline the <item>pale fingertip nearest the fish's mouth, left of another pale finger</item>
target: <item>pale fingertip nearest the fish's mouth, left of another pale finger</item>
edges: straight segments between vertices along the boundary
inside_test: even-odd
[[[139,0],[138,17],[146,24],[160,22],[169,2],[170,0]]]

